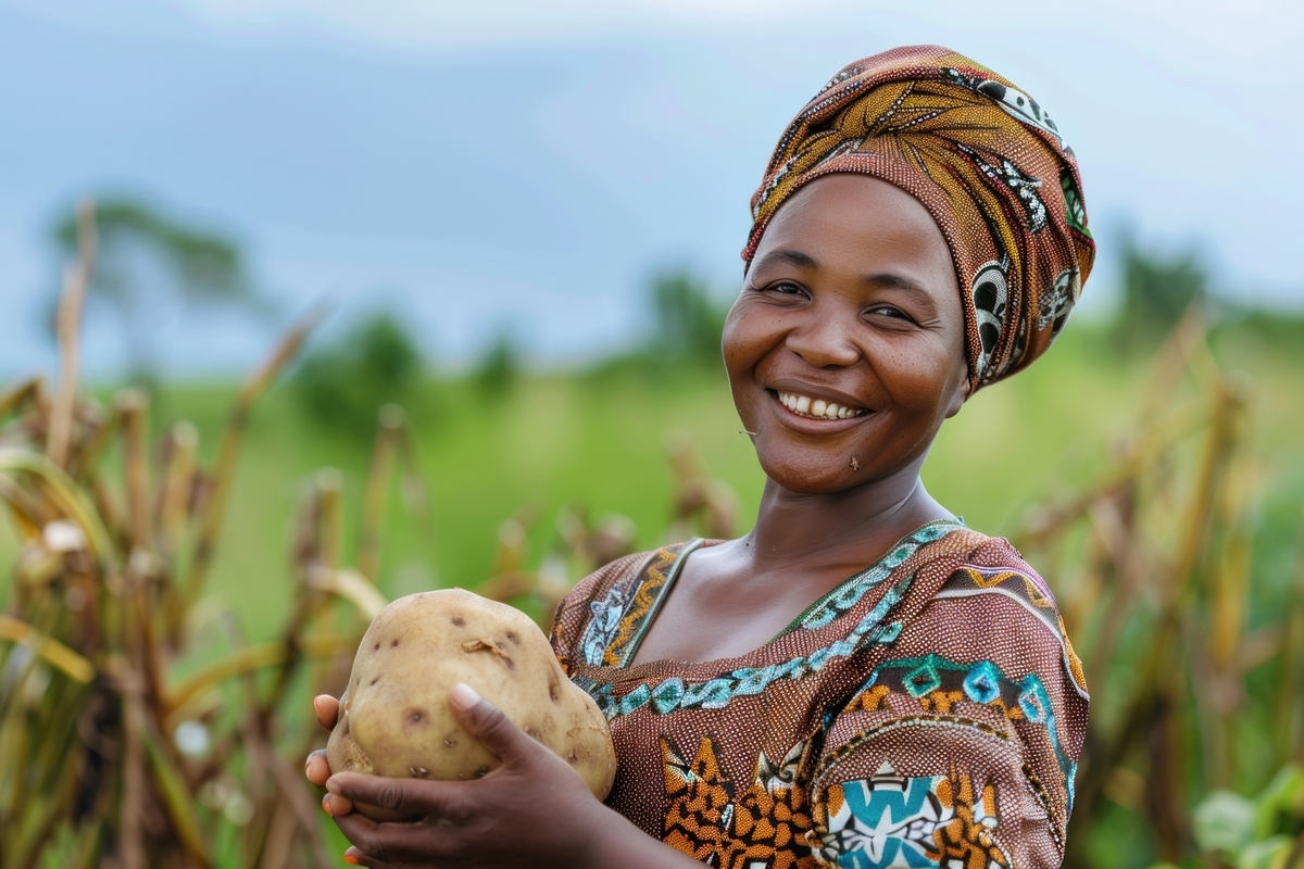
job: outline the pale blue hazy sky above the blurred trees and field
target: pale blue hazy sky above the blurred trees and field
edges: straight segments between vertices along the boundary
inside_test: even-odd
[[[275,302],[158,305],[168,374],[243,371],[321,301],[327,332],[395,311],[449,365],[505,328],[545,365],[629,347],[659,271],[737,291],[778,133],[910,43],[1056,119],[1101,242],[1082,315],[1116,296],[1125,231],[1304,309],[1294,0],[0,0],[0,378],[51,367],[50,227],[86,194],[232,235]],[[93,310],[91,377],[128,350]]]

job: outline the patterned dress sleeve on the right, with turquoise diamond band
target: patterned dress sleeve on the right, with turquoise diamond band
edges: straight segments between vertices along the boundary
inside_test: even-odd
[[[1042,580],[964,565],[829,717],[810,784],[814,856],[1059,866],[1088,704]]]

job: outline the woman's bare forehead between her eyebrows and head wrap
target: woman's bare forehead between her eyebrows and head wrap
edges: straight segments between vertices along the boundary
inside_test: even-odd
[[[822,270],[909,271],[931,284],[957,287],[951,249],[928,210],[868,175],[825,175],[789,197],[765,228],[755,266],[781,249],[810,255]]]

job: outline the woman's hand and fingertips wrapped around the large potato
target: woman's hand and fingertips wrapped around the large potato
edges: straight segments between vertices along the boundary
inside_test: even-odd
[[[357,773],[330,775],[321,752],[308,778],[325,782],[323,808],[355,844],[344,860],[379,869],[404,866],[583,865],[600,826],[613,816],[566,761],[518,728],[468,685],[449,692],[452,714],[502,766],[475,782],[396,779]],[[339,704],[318,697],[317,720],[333,727]],[[353,801],[417,816],[377,823],[352,812]]]

